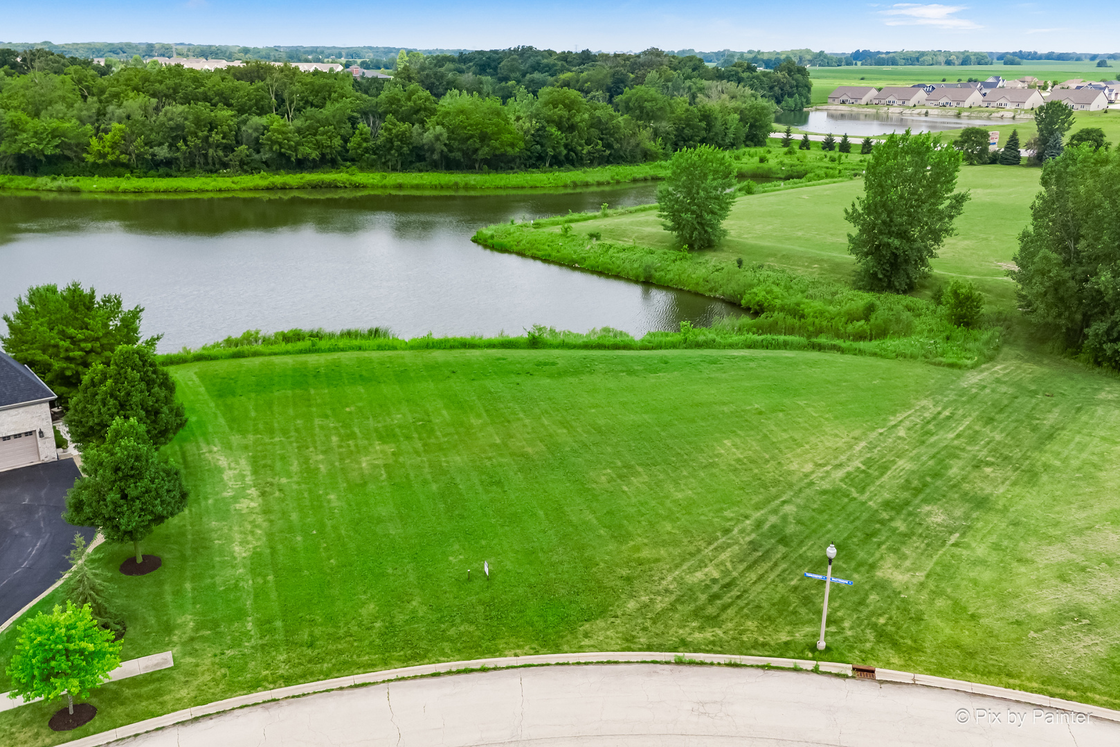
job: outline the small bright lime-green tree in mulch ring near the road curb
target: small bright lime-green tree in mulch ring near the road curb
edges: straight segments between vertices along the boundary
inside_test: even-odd
[[[67,707],[50,718],[50,728],[67,731],[88,723],[97,713],[90,703],[74,707],[74,698],[88,698],[90,690],[109,680],[121,665],[121,643],[113,641],[93,619],[90,606],[55,605],[49,615],[39,613],[17,628],[16,653],[8,664],[12,689],[9,698],[54,700],[65,694]]]

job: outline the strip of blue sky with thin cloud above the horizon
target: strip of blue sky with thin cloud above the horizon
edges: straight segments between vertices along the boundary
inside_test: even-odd
[[[554,49],[1120,50],[1116,7],[961,3],[405,0],[3,2],[2,41],[374,45]],[[1075,11],[1075,12],[1074,12]],[[1098,22],[1093,17],[1105,19]]]

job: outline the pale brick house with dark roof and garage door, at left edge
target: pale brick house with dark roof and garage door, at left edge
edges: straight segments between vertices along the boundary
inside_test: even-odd
[[[50,424],[55,399],[30,368],[0,353],[0,470],[58,458]]]

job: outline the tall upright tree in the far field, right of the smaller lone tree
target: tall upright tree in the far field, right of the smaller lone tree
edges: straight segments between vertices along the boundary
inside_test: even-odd
[[[869,290],[906,293],[930,273],[969,196],[954,193],[961,153],[930,133],[890,134],[875,148],[864,195],[844,211],[856,227],[848,251],[857,281]]]

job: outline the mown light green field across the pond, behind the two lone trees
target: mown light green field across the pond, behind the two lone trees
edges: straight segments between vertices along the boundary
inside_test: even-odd
[[[1040,175],[1037,168],[963,167],[958,188],[969,189],[972,199],[956,222],[958,235],[932,262],[934,274],[923,289],[927,291],[950,277],[969,278],[995,306],[1012,310],[1015,287],[1005,274],[1005,265],[1018,250],[1016,237],[1030,221],[1030,202]],[[853,179],[743,196],[725,223],[727,239],[710,253],[847,281],[853,259],[848,254],[847,239],[851,225],[843,211],[862,188],[862,181]],[[576,227],[580,233],[601,232],[604,240],[673,245],[672,234],[662,228],[654,212],[599,218]]]

